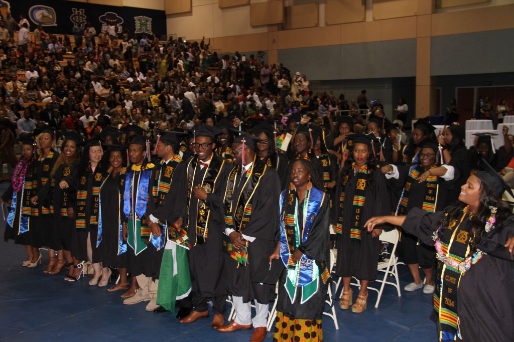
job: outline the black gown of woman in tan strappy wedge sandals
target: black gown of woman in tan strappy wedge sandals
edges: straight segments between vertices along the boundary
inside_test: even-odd
[[[350,238],[350,227],[355,226],[353,197],[358,177],[353,175],[350,170],[350,178],[345,187],[345,203],[343,204],[343,229],[337,236],[337,267],[336,274],[340,277],[356,277],[362,280],[375,280],[377,278],[378,254],[380,253],[380,240],[374,238],[362,226],[368,219],[374,216],[389,215],[390,206],[387,201],[388,193],[386,177],[379,168],[374,168],[374,188],[366,184],[365,201],[362,207],[360,218],[361,239]],[[342,186],[343,175],[341,174],[339,186]],[[336,194],[340,194],[339,188]],[[334,205],[336,211],[339,210],[337,204]],[[334,218],[333,218],[334,219]],[[336,217],[334,222],[337,222]],[[387,228],[387,226],[377,226],[377,228]]]

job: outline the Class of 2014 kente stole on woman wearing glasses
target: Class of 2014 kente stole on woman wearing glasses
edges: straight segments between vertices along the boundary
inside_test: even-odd
[[[437,166],[437,164],[434,164],[430,167],[430,169],[433,169]],[[409,204],[409,193],[412,183],[417,182],[416,178],[418,178],[424,172],[425,168],[419,164],[413,165],[409,169],[409,176],[407,177],[407,181],[405,182],[405,186],[403,187],[403,191],[401,193],[400,201],[398,202],[398,206],[396,208],[396,216],[407,215],[407,205]],[[439,193],[439,184],[437,182],[437,178],[437,176],[433,175],[428,176],[427,180],[424,182],[425,192],[423,195],[423,203],[421,203],[421,209],[429,213],[435,212],[435,207],[437,205],[437,195]]]

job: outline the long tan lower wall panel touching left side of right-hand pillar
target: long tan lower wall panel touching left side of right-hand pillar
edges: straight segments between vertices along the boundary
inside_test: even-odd
[[[341,29],[341,42],[339,44],[353,44],[365,42],[392,41],[416,37],[416,17],[395,18],[343,24]]]

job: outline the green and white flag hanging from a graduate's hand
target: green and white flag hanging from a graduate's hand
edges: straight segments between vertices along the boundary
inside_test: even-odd
[[[162,255],[157,288],[157,304],[171,312],[175,302],[191,292],[191,277],[186,248],[167,241]]]

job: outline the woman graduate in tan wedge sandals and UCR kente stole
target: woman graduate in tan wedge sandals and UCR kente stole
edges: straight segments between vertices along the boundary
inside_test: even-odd
[[[374,135],[353,134],[352,151],[345,161],[338,180],[338,201],[333,206],[333,220],[337,222],[336,275],[343,278],[343,293],[339,307],[352,304],[351,277],[360,280],[358,299],[352,311],[361,313],[368,301],[368,283],[377,277],[381,226],[371,233],[364,230],[364,222],[378,213],[390,213],[387,203],[386,177],[376,167],[371,150]],[[383,215],[382,214],[382,215]]]

